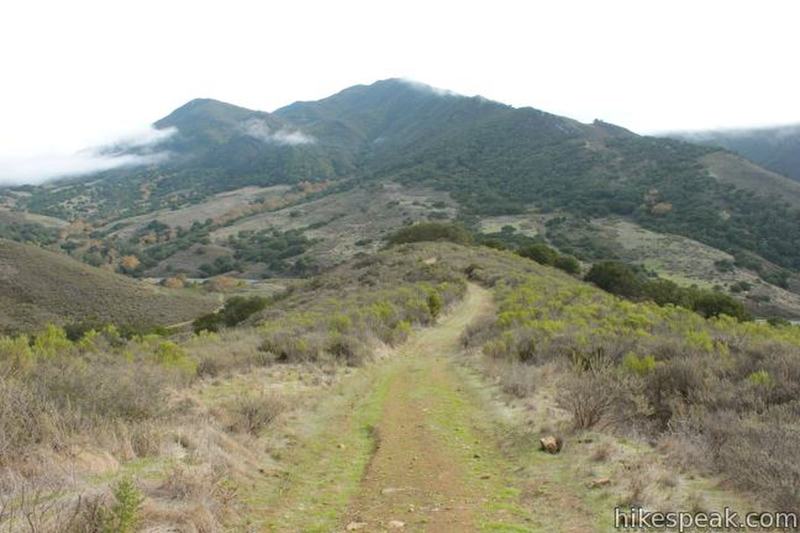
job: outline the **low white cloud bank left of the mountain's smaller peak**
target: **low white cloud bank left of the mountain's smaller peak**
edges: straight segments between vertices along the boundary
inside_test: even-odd
[[[71,154],[0,155],[0,186],[38,185],[57,178],[159,163],[169,153],[159,151],[158,145],[175,132],[174,128],[148,128],[128,133],[102,147]]]

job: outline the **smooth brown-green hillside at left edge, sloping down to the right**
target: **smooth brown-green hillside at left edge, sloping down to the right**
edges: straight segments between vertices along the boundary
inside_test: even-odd
[[[154,326],[191,319],[215,302],[153,287],[34,246],[0,240],[0,330],[97,319]]]

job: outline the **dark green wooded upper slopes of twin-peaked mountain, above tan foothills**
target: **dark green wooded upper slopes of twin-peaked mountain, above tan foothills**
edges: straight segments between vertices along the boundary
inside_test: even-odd
[[[124,224],[245,186],[288,185],[303,194],[263,209],[247,204],[241,216],[359,182],[396,181],[449,193],[468,223],[531,209],[615,215],[800,268],[796,184],[713,147],[643,137],[599,121],[582,124],[390,79],[273,113],[193,100],[155,126],[177,131],[164,141],[162,148],[173,153],[165,163],[29,188],[17,205],[97,225]],[[232,222],[212,221],[202,231]],[[162,260],[165,253],[156,255]]]

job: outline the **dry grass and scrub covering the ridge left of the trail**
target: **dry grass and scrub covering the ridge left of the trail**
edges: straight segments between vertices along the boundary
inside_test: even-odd
[[[68,522],[98,530],[114,503],[108,488],[131,473],[145,496],[140,527],[236,523],[238,487],[272,462],[265,443],[280,431],[280,415],[463,294],[458,269],[429,257],[389,252],[346,265],[218,334],[126,340],[104,330],[73,342],[52,328],[2,340],[0,531],[16,531],[21,520],[37,531]],[[298,339],[305,344],[292,348]],[[290,348],[297,356],[281,361]],[[271,386],[290,376],[286,390]]]

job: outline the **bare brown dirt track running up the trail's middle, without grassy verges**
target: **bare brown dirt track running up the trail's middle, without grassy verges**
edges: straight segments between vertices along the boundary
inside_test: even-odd
[[[475,457],[454,448],[440,419],[451,416],[447,404],[460,390],[446,357],[459,350],[461,332],[490,305],[490,294],[471,285],[452,314],[397,354],[402,361],[374,430],[376,451],[348,512],[351,528],[378,531],[402,523],[405,530],[475,529],[475,515],[486,502],[482,480],[473,479],[469,466]]]

